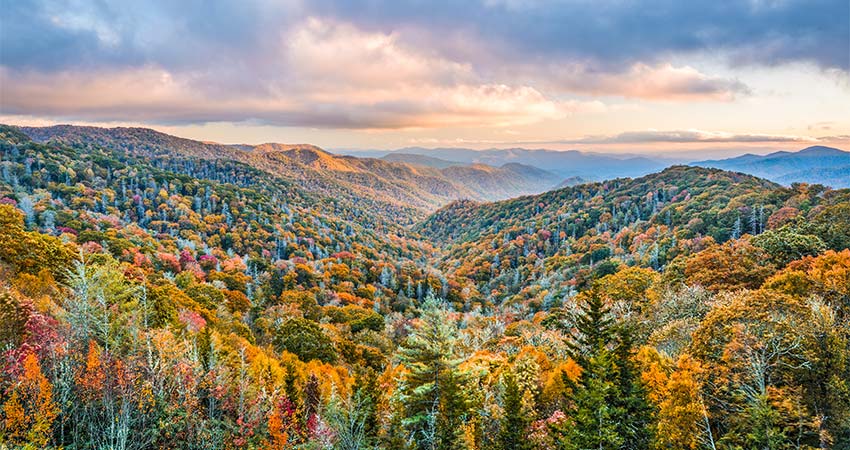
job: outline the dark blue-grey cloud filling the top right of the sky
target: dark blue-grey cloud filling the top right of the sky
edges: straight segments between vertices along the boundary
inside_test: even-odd
[[[504,59],[579,61],[600,70],[671,55],[734,64],[811,62],[850,70],[846,0],[314,0],[322,14],[377,29],[414,28],[444,51],[484,41]],[[460,39],[458,37],[461,37]],[[420,40],[423,38],[419,37]],[[484,55],[485,58],[489,55]]]

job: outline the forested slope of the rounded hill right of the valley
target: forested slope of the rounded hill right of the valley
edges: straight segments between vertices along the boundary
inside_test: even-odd
[[[607,259],[660,268],[707,237],[756,234],[791,196],[749,175],[674,166],[494,203],[455,202],[415,230],[444,243],[441,270],[496,302],[520,291],[568,292]]]

